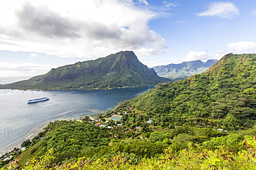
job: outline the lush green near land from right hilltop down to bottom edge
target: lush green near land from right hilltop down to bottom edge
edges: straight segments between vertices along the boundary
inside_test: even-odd
[[[93,118],[51,122],[2,169],[255,169],[256,55],[227,54]],[[118,116],[121,120],[113,120]],[[246,167],[246,168],[245,168]]]

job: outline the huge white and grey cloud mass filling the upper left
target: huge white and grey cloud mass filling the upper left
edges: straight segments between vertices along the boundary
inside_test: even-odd
[[[147,8],[146,0],[137,2],[5,1],[0,4],[0,50],[73,58],[120,50],[161,54],[165,39],[147,25],[158,13]]]

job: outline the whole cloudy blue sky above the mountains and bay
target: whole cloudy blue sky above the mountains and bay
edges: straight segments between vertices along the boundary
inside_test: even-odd
[[[0,77],[126,50],[147,67],[254,53],[255,28],[255,0],[1,0]]]

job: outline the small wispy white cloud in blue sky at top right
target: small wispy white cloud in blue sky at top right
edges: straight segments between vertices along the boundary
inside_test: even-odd
[[[239,10],[231,2],[214,2],[210,4],[208,10],[196,14],[198,17],[218,17],[221,19],[232,19],[239,15]]]

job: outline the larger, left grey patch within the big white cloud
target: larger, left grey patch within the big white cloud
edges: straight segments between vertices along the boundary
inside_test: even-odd
[[[62,17],[46,6],[36,8],[30,3],[24,4],[23,8],[16,13],[16,17],[24,29],[44,36],[77,37],[81,28],[78,22]]]

